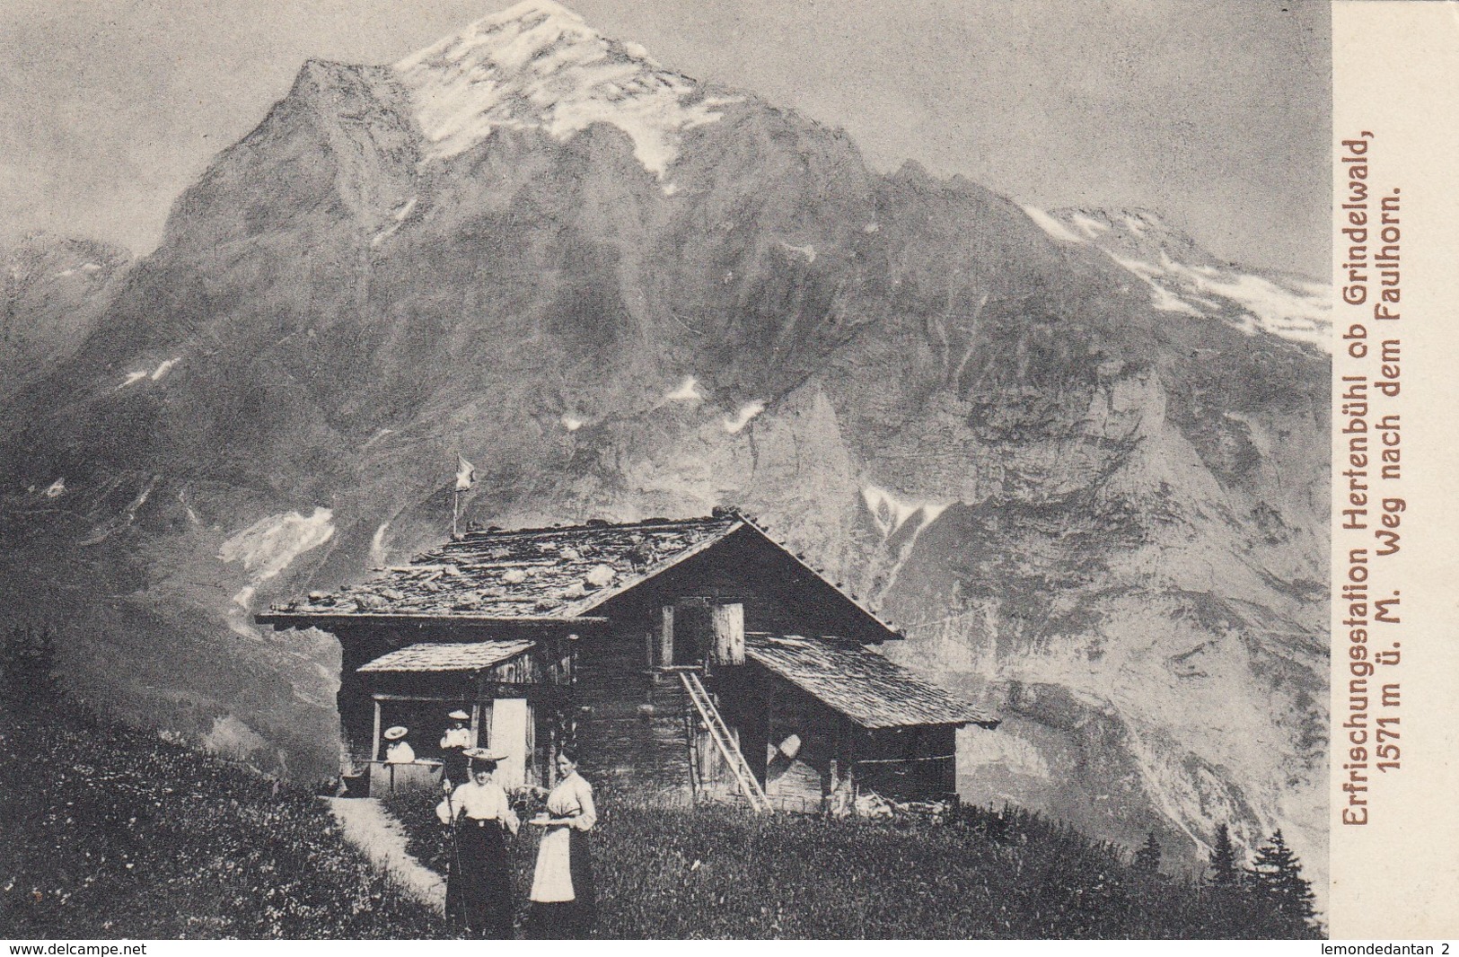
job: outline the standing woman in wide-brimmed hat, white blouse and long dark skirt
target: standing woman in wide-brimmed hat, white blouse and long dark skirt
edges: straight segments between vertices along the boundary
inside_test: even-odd
[[[512,937],[512,887],[506,837],[515,834],[516,814],[502,785],[492,780],[496,763],[506,756],[487,748],[467,748],[471,780],[446,794],[436,807],[452,826],[446,921],[473,937]]]

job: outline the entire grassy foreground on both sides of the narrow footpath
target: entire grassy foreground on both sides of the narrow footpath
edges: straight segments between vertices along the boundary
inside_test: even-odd
[[[69,709],[74,715],[76,709]],[[12,938],[439,938],[317,797],[153,732],[4,713],[0,926]],[[438,795],[391,799],[445,869]],[[521,813],[535,811],[521,798]],[[601,794],[610,938],[1291,937],[1240,887],[1176,880],[1021,811],[823,820],[652,808]],[[518,916],[535,855],[512,845]]]

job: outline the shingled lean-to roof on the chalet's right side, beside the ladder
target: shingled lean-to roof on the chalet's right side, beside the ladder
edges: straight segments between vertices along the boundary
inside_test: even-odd
[[[862,728],[998,725],[996,718],[859,645],[750,633],[746,656]]]

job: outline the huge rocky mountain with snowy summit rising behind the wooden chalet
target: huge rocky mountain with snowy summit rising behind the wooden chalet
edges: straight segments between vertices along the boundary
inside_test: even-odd
[[[458,451],[480,524],[734,505],[1002,712],[969,799],[1170,859],[1280,826],[1320,877],[1319,293],[877,174],[534,1],[308,63],[98,319],[44,298],[0,603],[114,708],[331,773],[333,639],[251,616],[439,543]]]

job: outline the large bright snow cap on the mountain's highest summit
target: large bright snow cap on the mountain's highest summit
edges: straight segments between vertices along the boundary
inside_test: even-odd
[[[662,178],[690,130],[735,99],[705,96],[549,0],[528,0],[406,57],[395,73],[411,93],[429,159],[449,159],[496,128],[540,128],[566,142],[594,123],[623,130],[633,155]]]

